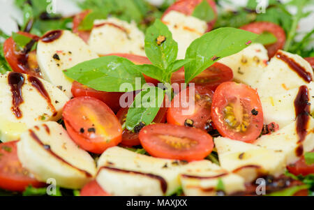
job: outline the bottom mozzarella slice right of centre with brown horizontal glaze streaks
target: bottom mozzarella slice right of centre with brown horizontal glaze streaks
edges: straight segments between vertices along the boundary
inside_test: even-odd
[[[227,195],[245,190],[242,177],[223,170],[209,160],[188,163],[180,175],[180,180],[186,196],[216,195],[219,181],[223,181]]]

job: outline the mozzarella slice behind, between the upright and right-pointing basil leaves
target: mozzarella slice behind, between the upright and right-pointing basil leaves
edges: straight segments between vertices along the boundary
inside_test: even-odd
[[[184,59],[188,46],[193,40],[200,38],[207,30],[207,22],[175,10],[167,13],[163,17],[163,22],[172,32],[172,38],[178,43],[178,59]]]

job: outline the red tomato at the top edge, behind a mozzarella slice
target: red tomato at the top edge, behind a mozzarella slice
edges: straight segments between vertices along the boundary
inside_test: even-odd
[[[167,13],[170,13],[170,11],[175,10],[177,12],[180,13],[184,13],[184,15],[192,15],[195,7],[197,5],[199,5],[203,0],[179,0],[176,1],[172,4],[172,6],[170,6],[169,8],[167,8],[167,10],[165,10],[165,13],[163,14],[163,17],[165,17],[165,15],[167,15]],[[212,0],[207,0],[209,5],[211,6],[211,8],[213,8],[215,16],[217,16],[217,9],[216,9],[216,3],[215,1]],[[162,19],[163,19],[162,17]],[[211,22],[207,23],[207,31],[211,31],[211,29],[213,29],[214,24],[216,22],[216,17],[214,20],[212,20]]]

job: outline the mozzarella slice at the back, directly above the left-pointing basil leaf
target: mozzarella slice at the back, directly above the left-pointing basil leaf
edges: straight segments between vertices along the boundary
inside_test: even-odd
[[[128,53],[145,56],[144,33],[135,22],[125,22],[116,17],[95,20],[89,46],[98,54]]]

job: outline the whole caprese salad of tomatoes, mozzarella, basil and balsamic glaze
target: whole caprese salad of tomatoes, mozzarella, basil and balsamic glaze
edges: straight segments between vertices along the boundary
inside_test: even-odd
[[[16,3],[0,195],[313,195],[314,32],[294,39],[311,1]]]

